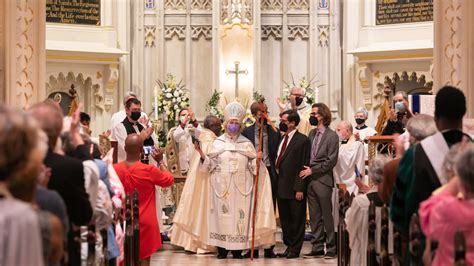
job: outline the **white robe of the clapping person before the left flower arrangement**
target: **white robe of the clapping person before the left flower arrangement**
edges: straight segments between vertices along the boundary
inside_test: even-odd
[[[192,124],[187,124],[184,129],[181,125],[177,126],[173,133],[173,139],[178,145],[179,168],[181,173],[188,172],[189,161],[194,153],[194,145],[191,136],[194,135],[195,138],[199,139],[201,130],[201,125],[199,124],[197,127],[194,127]]]

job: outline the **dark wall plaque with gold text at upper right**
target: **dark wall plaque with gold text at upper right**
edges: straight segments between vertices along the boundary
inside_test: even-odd
[[[433,21],[433,0],[377,0],[376,25]]]

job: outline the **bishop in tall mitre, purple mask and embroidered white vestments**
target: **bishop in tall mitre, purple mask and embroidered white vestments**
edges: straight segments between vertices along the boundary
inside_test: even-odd
[[[209,171],[208,236],[206,244],[219,248],[218,258],[232,250],[234,257],[250,248],[255,192],[257,153],[253,144],[240,135],[245,109],[238,102],[224,110],[225,134],[217,138],[209,152],[201,152],[202,169]],[[261,159],[262,154],[258,157]],[[255,224],[255,246],[275,243],[275,214],[270,177],[260,164]],[[223,253],[224,251],[225,253]]]

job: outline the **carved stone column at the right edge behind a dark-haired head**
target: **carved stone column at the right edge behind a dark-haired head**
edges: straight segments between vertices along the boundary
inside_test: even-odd
[[[434,1],[434,89],[459,87],[474,118],[474,1]]]

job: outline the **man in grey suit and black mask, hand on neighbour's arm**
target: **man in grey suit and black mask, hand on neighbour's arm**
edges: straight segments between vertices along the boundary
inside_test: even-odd
[[[310,124],[316,126],[309,132],[311,141],[310,166],[300,172],[301,177],[310,178],[308,184],[308,206],[313,247],[305,257],[336,257],[336,239],[332,216],[332,191],[339,153],[339,137],[328,126],[331,111],[323,103],[315,103],[311,109]],[[324,252],[326,244],[326,253]]]

